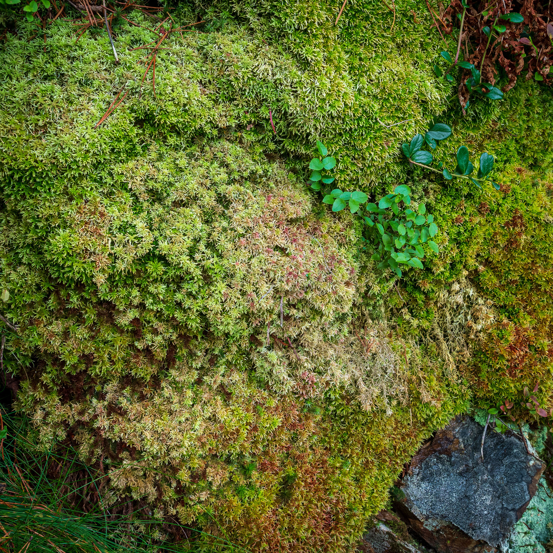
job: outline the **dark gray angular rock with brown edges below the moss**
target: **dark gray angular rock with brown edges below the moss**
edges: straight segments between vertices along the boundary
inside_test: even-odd
[[[439,551],[493,551],[504,544],[536,493],[545,465],[513,432],[458,417],[415,455],[396,509]],[[487,547],[486,545],[492,546]]]

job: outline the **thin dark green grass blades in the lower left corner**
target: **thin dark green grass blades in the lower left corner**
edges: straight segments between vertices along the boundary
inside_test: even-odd
[[[29,421],[2,416],[0,442],[0,551],[2,553],[172,553],[198,551],[201,530],[143,518],[140,510],[116,514],[105,475],[79,461],[71,446],[41,452]],[[150,512],[149,508],[145,508]],[[213,538],[211,551],[248,553]],[[205,544],[202,551],[206,550]]]

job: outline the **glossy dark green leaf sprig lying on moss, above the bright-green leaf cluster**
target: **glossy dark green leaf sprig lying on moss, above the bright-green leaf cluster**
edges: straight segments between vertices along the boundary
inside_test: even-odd
[[[457,166],[455,171],[451,173],[444,167],[442,161],[437,166],[438,168],[430,167],[430,164],[434,161],[434,156],[426,150],[421,150],[422,146],[426,142],[432,149],[436,148],[437,140],[444,140],[451,134],[451,127],[444,123],[437,123],[426,132],[424,136],[422,134],[415,134],[410,143],[404,142],[401,144],[401,149],[405,157],[414,165],[424,167],[435,173],[441,173],[447,180],[452,180],[453,177],[458,179],[467,179],[478,188],[482,188],[481,182],[489,181],[492,183],[495,190],[499,190],[499,185],[489,178],[489,174],[493,169],[493,155],[484,152],[480,156],[480,166],[476,178],[471,175],[474,173],[474,165],[469,160],[468,148],[461,146],[457,150]]]

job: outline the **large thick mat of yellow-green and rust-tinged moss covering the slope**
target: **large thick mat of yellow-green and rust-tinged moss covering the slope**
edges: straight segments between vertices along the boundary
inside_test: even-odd
[[[7,382],[156,540],[343,552],[456,414],[551,424],[549,77],[463,115],[458,20],[340,6],[1,8]]]

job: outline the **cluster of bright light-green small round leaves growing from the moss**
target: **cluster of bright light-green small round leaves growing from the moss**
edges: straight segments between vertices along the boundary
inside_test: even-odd
[[[451,134],[451,129],[449,131]],[[427,143],[432,144],[432,141],[440,140],[444,136],[443,129],[433,129],[428,136],[421,137],[422,140],[427,140]],[[448,136],[449,134],[447,134]],[[434,142],[435,144],[435,142]],[[326,156],[327,149],[323,144],[317,142],[317,148],[321,156]],[[330,184],[334,178],[324,171],[330,171],[324,167],[325,159],[327,165],[332,165],[333,169],[336,165],[334,158],[312,159],[310,168],[315,174],[311,175],[311,188],[322,191],[322,184]],[[318,161],[319,163],[314,163]],[[319,166],[323,169],[319,169]],[[325,179],[328,182],[325,182]],[[349,207],[349,211],[361,218],[363,221],[364,231],[362,241],[365,243],[364,248],[373,252],[372,258],[378,262],[379,269],[392,269],[398,276],[401,276],[401,267],[408,266],[416,269],[424,268],[421,259],[424,258],[425,251],[422,244],[427,246],[435,253],[439,253],[437,244],[430,240],[438,232],[438,227],[434,222],[434,216],[426,215],[426,206],[419,205],[417,211],[409,208],[411,204],[411,189],[409,186],[400,185],[395,187],[394,194],[384,196],[378,202],[378,205],[368,201],[368,196],[364,192],[358,190],[354,192],[344,192],[339,188],[328,191],[323,198],[325,204],[332,205],[332,211],[342,211]]]

